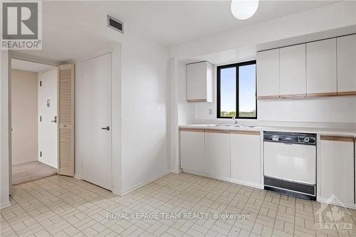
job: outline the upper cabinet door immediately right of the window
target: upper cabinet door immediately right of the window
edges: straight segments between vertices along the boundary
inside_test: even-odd
[[[257,96],[279,97],[279,48],[257,53]]]

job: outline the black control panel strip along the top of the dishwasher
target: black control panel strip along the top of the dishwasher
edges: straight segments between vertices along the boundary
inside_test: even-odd
[[[316,135],[299,132],[263,132],[265,142],[284,142],[294,144],[316,144]]]

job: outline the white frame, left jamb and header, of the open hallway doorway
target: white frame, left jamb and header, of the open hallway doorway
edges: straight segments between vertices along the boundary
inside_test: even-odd
[[[11,115],[12,115],[12,108],[11,108],[11,59],[19,59],[19,60],[25,60],[28,62],[32,63],[42,63],[46,65],[53,65],[53,67],[57,67],[60,62],[56,60],[51,60],[48,58],[41,58],[41,57],[36,57],[36,56],[28,56],[25,53],[19,53],[16,51],[9,51],[8,55],[8,119],[9,119],[9,194],[12,194],[12,135],[11,135]]]

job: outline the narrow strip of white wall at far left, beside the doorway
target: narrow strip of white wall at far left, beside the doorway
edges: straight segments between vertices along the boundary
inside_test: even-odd
[[[0,51],[0,209],[10,206],[9,52]]]

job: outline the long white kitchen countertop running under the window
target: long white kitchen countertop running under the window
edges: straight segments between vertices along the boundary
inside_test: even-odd
[[[347,137],[356,137],[355,129],[335,129],[335,128],[320,128],[320,127],[279,127],[279,126],[244,126],[242,127],[226,127],[216,125],[180,125],[179,128],[196,128],[204,130],[228,130],[228,131],[276,131],[276,132],[303,132],[316,133],[319,135],[339,135]]]

